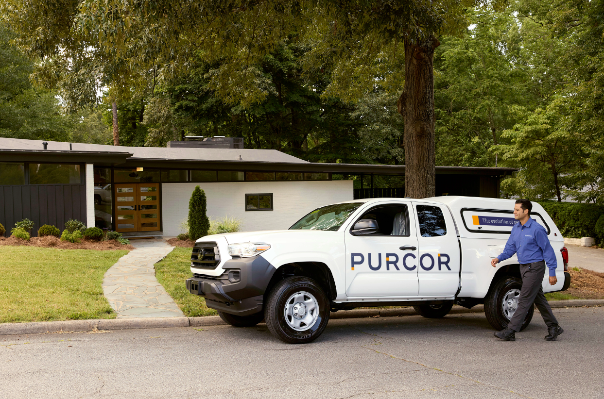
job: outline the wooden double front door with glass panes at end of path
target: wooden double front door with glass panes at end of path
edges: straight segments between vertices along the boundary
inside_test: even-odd
[[[115,231],[159,231],[159,183],[115,184]]]

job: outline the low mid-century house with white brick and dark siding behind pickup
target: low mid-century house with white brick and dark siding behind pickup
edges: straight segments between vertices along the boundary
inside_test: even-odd
[[[513,168],[437,167],[437,195],[498,197]],[[287,229],[312,209],[365,197],[400,197],[373,188],[373,176],[403,176],[404,165],[323,164],[242,139],[170,142],[167,148],[0,138],[0,223],[27,217],[33,233],[68,219],[136,235],[178,235],[196,185],[210,217],[237,217],[244,231]],[[354,188],[350,176],[359,176]],[[358,181],[358,180],[357,180]],[[369,186],[368,188],[366,186]],[[7,234],[10,234],[7,232]]]

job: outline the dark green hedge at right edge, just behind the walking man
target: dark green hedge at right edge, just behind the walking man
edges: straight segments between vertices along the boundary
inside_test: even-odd
[[[539,202],[554,220],[563,237],[598,237],[597,222],[604,206],[590,203]]]

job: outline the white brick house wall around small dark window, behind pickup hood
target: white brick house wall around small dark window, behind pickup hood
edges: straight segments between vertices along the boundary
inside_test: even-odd
[[[242,231],[287,229],[319,206],[353,199],[352,180],[320,182],[164,183],[161,185],[164,235],[178,235],[187,219],[196,185],[208,199],[208,217],[237,217]],[[273,211],[246,211],[245,194],[273,194]]]

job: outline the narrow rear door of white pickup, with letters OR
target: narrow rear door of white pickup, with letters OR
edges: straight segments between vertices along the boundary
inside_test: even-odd
[[[419,296],[453,296],[459,287],[460,252],[445,205],[413,202],[417,223]]]

